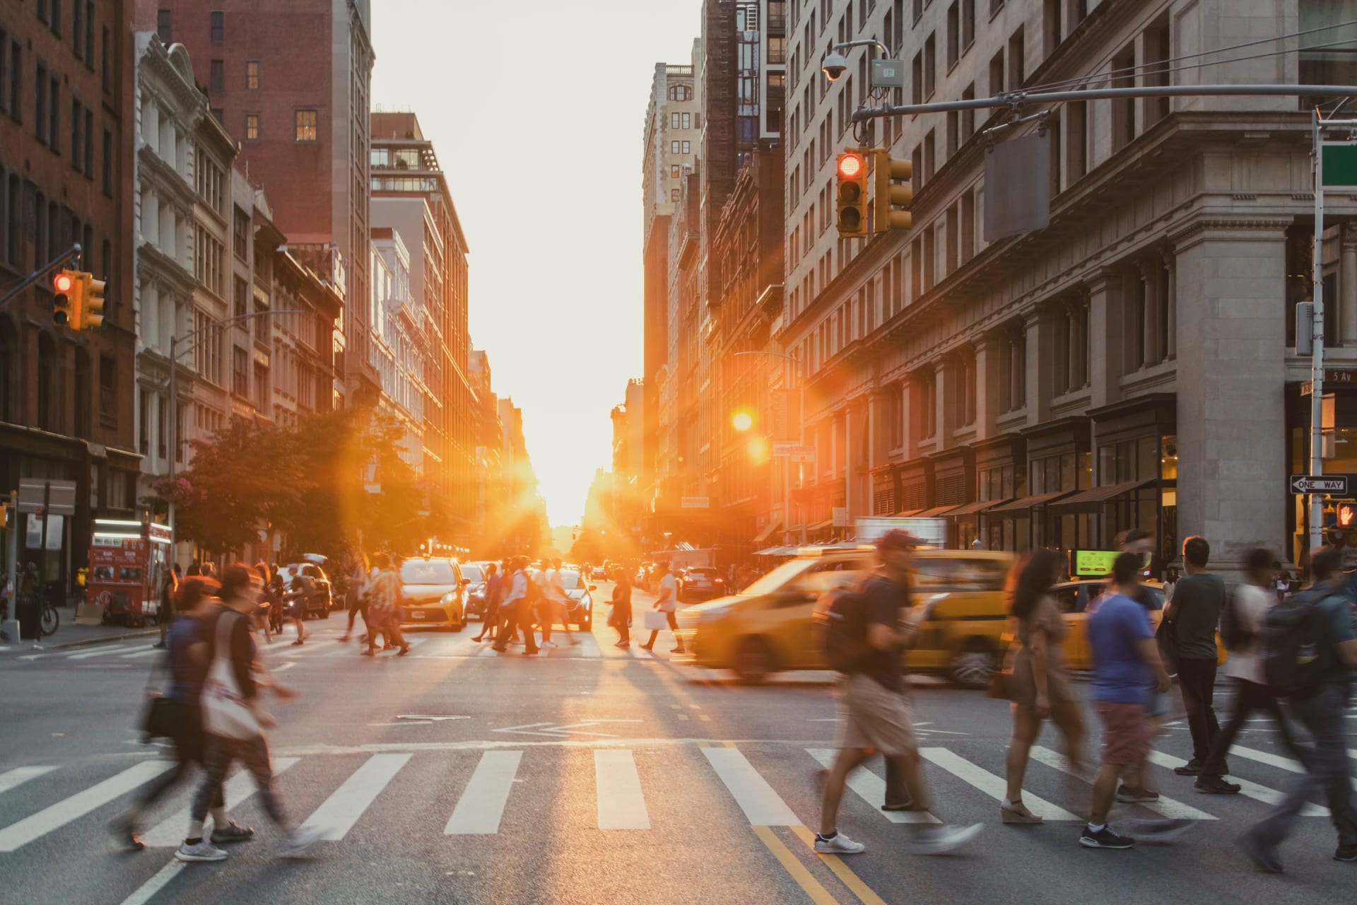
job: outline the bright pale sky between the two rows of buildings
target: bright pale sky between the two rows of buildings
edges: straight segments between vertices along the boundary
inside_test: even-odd
[[[375,110],[414,110],[467,233],[471,339],[522,408],[554,525],[612,460],[642,365],[641,157],[700,0],[379,0]],[[513,15],[506,15],[512,11]]]

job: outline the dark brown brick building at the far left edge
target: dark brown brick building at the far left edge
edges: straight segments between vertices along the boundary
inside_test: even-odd
[[[0,0],[0,293],[72,243],[107,284],[98,332],[53,326],[49,280],[0,307],[0,493],[20,478],[76,482],[61,550],[20,544],[64,586],[91,518],[136,505],[133,54],[130,0]]]

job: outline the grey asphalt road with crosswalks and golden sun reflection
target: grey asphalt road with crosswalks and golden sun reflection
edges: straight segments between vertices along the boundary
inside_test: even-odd
[[[817,752],[835,731],[830,674],[744,687],[666,653],[619,650],[603,621],[536,658],[487,653],[471,640],[476,624],[414,631],[408,657],[376,659],[335,640],[341,615],[308,623],[303,647],[286,643],[289,630],[266,654],[301,693],[271,707],[278,787],[296,821],[332,836],[300,862],[275,856],[278,833],[243,776],[228,784],[231,811],[258,834],[225,863],[174,860],[187,787],[145,822],[147,851],[125,852],[109,833],[157,769],[160,750],[133,730],[155,662],[148,639],[3,651],[0,902],[1352,901],[1357,866],[1331,860],[1322,814],[1300,821],[1282,877],[1254,872],[1232,845],[1266,811],[1259,799],[1295,776],[1266,722],[1231,756],[1254,798],[1194,794],[1160,765],[1175,799],[1160,810],[1193,809],[1194,832],[1171,847],[1087,851],[1076,841],[1087,783],[1056,757],[1034,758],[1026,801],[1065,820],[1000,825],[1006,707],[925,680],[913,701],[927,780],[946,820],[984,833],[953,855],[911,855],[913,828],[878,809],[878,763],[840,815],[867,852],[817,856],[806,828],[818,822]],[[669,647],[664,632],[655,649]],[[1357,711],[1349,719],[1357,757]],[[1041,741],[1058,748],[1050,729]],[[1158,749],[1168,765],[1190,756],[1186,723]],[[1114,822],[1155,815],[1118,806]]]

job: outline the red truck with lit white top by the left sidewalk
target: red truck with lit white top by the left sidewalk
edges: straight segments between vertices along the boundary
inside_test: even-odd
[[[160,581],[170,569],[170,526],[95,518],[90,543],[90,602],[106,625],[140,628],[160,617]]]

